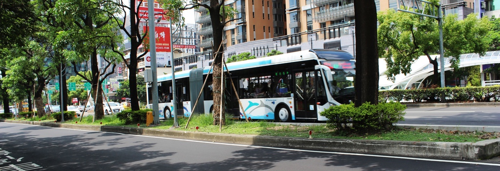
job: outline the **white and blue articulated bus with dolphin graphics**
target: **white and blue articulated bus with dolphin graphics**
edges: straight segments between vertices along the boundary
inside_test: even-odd
[[[319,115],[321,111],[353,101],[354,63],[351,54],[331,49],[311,49],[227,63],[230,77],[224,75],[226,117],[244,119],[235,95],[237,92],[246,117],[251,119],[325,121],[327,119]],[[209,70],[207,66],[175,72],[176,90],[172,90],[171,74],[158,76],[160,118],[211,113],[214,90]],[[207,83],[202,86],[205,78]],[[150,83],[147,87],[150,103],[147,107],[151,109]],[[200,90],[202,95],[191,111]],[[177,111],[173,111],[172,91],[176,94]]]

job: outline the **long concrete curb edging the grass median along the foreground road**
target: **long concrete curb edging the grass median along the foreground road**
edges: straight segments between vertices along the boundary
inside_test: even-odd
[[[102,131],[121,134],[189,139],[217,143],[242,144],[273,148],[291,148],[312,151],[392,155],[439,159],[484,160],[500,155],[500,139],[484,140],[476,143],[453,142],[405,142],[345,139],[307,139],[270,137],[254,135],[233,135],[176,130],[158,130],[129,127],[87,126],[49,122],[12,121],[0,122],[40,125],[88,131]]]

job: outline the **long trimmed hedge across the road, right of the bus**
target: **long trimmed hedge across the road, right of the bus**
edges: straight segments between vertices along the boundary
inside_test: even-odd
[[[444,93],[447,101],[463,102],[490,102],[498,101],[500,97],[500,86],[487,87],[445,87],[431,89],[411,89],[411,90],[387,90],[379,91],[378,99],[381,102],[402,100],[410,102],[423,102],[441,100],[441,94]]]

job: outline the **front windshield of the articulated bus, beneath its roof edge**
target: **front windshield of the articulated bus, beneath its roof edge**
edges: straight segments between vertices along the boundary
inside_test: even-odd
[[[328,66],[332,80],[328,83],[330,94],[340,104],[354,102],[354,76],[356,75],[354,61],[322,61]]]

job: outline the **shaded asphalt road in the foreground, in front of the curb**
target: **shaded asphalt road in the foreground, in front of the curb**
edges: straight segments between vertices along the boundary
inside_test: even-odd
[[[0,123],[1,171],[498,171],[498,163],[219,144]]]

